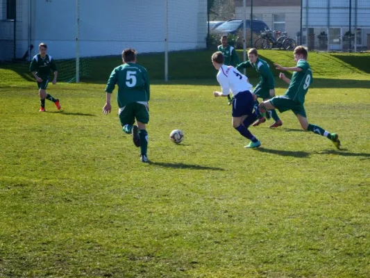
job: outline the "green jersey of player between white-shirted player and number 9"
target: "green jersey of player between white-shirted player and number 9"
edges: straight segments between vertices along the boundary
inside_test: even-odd
[[[255,63],[251,63],[250,60],[247,60],[244,63],[237,65],[237,70],[242,70],[247,67],[253,67],[253,69],[260,74],[260,82],[258,85],[262,89],[274,89],[275,88],[275,79],[274,75],[272,75],[271,69],[269,64],[260,58],[257,58]]]

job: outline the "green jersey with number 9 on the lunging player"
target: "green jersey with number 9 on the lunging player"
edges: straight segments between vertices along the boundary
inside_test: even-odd
[[[312,83],[312,70],[307,61],[303,59],[298,60],[296,66],[301,67],[302,71],[293,73],[285,96],[292,99],[292,101],[303,104],[305,102],[305,94]]]

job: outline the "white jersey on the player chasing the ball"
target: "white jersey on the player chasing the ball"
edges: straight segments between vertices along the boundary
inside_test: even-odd
[[[251,91],[253,86],[248,82],[248,78],[239,72],[235,67],[221,65],[217,74],[217,81],[221,85],[222,95],[237,95],[238,92]]]

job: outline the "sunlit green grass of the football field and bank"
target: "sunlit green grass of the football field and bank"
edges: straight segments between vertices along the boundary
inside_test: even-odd
[[[153,81],[150,165],[117,106],[101,113],[112,61],[94,83],[49,85],[62,111],[48,101],[47,113],[19,65],[1,66],[0,277],[369,277],[369,54],[348,55],[310,55],[305,104],[341,151],[289,112],[279,129],[251,128],[262,147],[244,149],[226,99],[212,97],[215,70],[191,60],[188,79]]]

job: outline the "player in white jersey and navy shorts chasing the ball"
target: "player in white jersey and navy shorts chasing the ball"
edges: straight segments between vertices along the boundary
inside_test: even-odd
[[[251,140],[246,148],[260,147],[261,142],[253,136],[248,127],[258,118],[259,111],[253,112],[253,95],[251,90],[253,86],[248,78],[240,73],[235,67],[224,65],[224,55],[221,51],[212,54],[212,64],[216,70],[217,81],[221,85],[221,92],[213,92],[215,97],[227,97],[230,92],[233,93],[233,127],[242,136]]]

